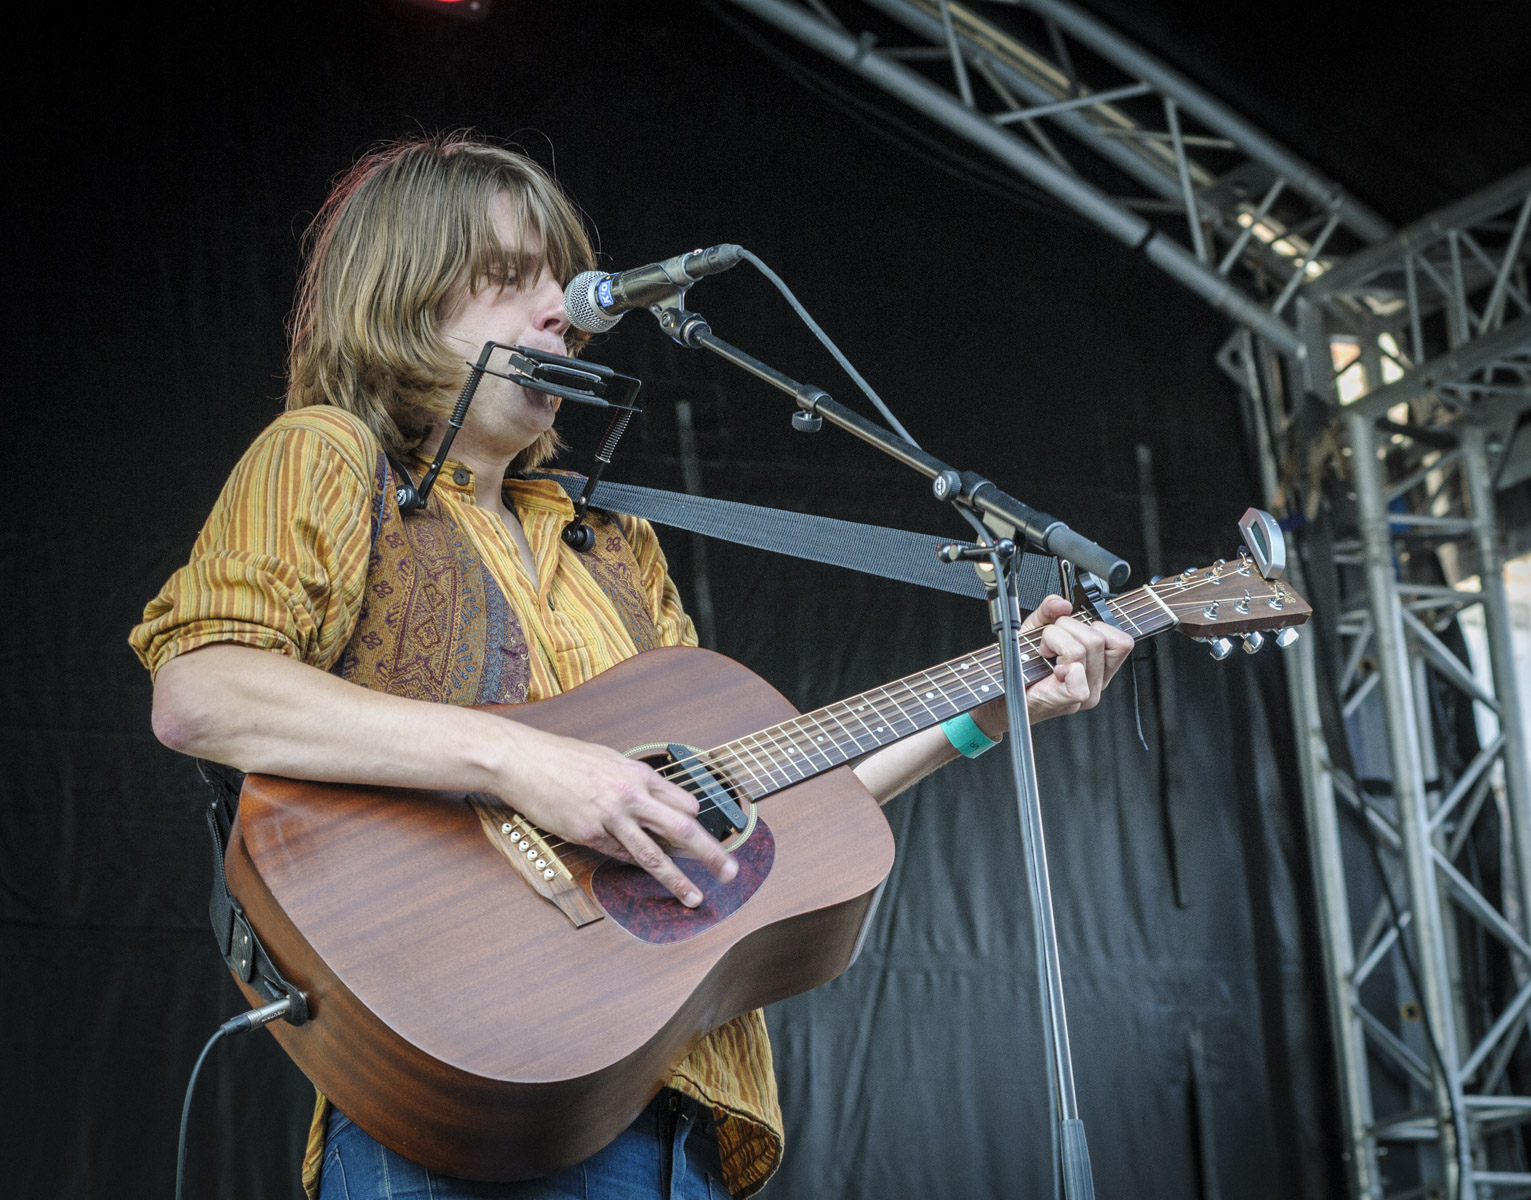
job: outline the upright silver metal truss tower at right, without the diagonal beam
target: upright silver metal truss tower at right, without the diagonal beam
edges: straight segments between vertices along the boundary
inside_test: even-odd
[[[1531,1195],[1531,1096],[1513,1082],[1531,1009],[1531,770],[1494,514],[1531,409],[1528,217],[1531,170],[1337,262],[1295,305],[1309,354],[1294,378],[1332,422],[1283,447],[1292,416],[1263,392],[1286,452],[1278,493],[1317,511],[1327,474],[1335,516],[1349,753],[1323,738],[1314,680],[1297,681],[1294,716],[1364,1197]],[[1468,608],[1487,632],[1477,672],[1450,640]],[[1461,729],[1436,727],[1453,699],[1494,718],[1467,756]],[[1337,813],[1353,820],[1350,854]],[[1356,840],[1376,846],[1381,879],[1346,869]]]

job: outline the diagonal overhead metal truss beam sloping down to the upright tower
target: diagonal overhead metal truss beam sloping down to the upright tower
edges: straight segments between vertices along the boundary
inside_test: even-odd
[[[1283,354],[1303,354],[1288,314],[1301,285],[1392,234],[1332,179],[1061,0],[733,3],[1141,249]]]

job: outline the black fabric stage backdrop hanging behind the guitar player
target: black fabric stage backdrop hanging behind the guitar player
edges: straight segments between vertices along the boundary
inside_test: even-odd
[[[1139,572],[1139,442],[1176,566],[1231,553],[1257,501],[1213,366],[1223,321],[1014,182],[943,167],[948,139],[917,141],[917,121],[877,136],[886,122],[784,73],[766,49],[778,40],[762,47],[715,9],[499,0],[472,24],[332,0],[51,20],[15,46],[47,83],[8,109],[6,1195],[167,1195],[193,1058],[242,1007],[207,931],[205,797],[150,736],[124,638],[279,410],[299,234],[367,144],[456,126],[514,139],[580,199],[612,266],[744,243],[932,452]],[[749,268],[694,302],[721,335],[853,399]],[[833,430],[795,433],[775,393],[664,343],[646,315],[592,357],[649,386],[614,478],[680,484],[687,401],[710,494],[963,533],[920,481]],[[568,465],[588,462],[596,430],[574,415]],[[703,560],[687,537],[668,545],[692,597]],[[804,707],[986,638],[972,602],[720,545],[704,566],[715,647]],[[1219,666],[1174,643],[1160,646],[1173,695],[1139,672],[1147,750],[1125,675],[1036,739],[1099,1194],[1338,1195],[1280,664]],[[1170,707],[1180,733],[1160,745]],[[899,860],[860,961],[769,1013],[787,1157],[767,1194],[1044,1195],[1003,755],[886,811]],[[269,1036],[220,1045],[193,1108],[188,1194],[292,1197],[309,1105]]]

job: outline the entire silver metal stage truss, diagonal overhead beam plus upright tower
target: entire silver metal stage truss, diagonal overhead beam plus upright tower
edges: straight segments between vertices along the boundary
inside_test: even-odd
[[[1340,582],[1337,652],[1307,638],[1285,661],[1350,1191],[1531,1197],[1531,1096],[1513,1084],[1531,768],[1494,517],[1531,409],[1531,168],[1395,231],[1066,0],[732,2],[1242,326],[1219,361],[1268,507],[1327,522]],[[1487,664],[1453,637],[1473,606]],[[1465,759],[1436,727],[1453,696],[1496,718]]]

